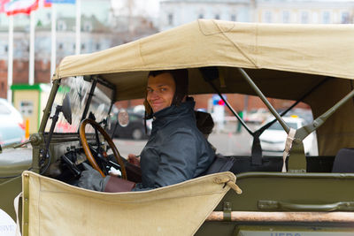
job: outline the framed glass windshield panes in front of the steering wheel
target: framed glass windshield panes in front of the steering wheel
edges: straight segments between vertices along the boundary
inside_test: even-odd
[[[58,93],[51,108],[50,117],[54,116],[58,105],[63,104],[65,95],[69,95],[72,109],[72,125],[67,123],[63,113],[59,114],[58,123],[54,129],[55,133],[76,133],[79,129],[82,114],[89,100],[89,92],[92,87],[92,81],[83,80],[82,76],[69,77],[61,80]],[[89,105],[89,113],[92,113],[96,122],[101,122],[108,117],[110,106],[112,103],[113,91],[100,83],[96,84],[94,95]],[[51,119],[45,128],[46,132],[50,131]],[[93,132],[91,126],[86,127],[86,132]]]

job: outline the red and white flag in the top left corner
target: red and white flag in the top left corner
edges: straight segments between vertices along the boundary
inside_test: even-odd
[[[11,0],[4,4],[4,12],[8,15],[29,14],[38,8],[39,0]]]

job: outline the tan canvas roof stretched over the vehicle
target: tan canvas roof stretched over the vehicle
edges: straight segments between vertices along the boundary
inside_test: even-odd
[[[126,100],[143,96],[150,70],[212,65],[219,66],[226,77],[228,90],[222,92],[252,94],[248,87],[234,86],[241,77],[230,66],[263,69],[250,72],[255,73],[257,80],[300,77],[289,72],[353,79],[354,25],[277,25],[199,19],[112,49],[65,57],[53,79],[99,74],[117,86],[117,100]],[[190,70],[189,77],[191,94],[212,92],[196,70]],[[303,80],[309,83],[306,76],[299,83]],[[196,84],[197,87],[193,86]],[[265,93],[294,96],[271,90]]]

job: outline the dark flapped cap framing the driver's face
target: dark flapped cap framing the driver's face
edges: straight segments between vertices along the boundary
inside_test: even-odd
[[[173,95],[172,105],[179,106],[185,96],[188,95],[189,88],[189,72],[187,69],[178,69],[178,70],[165,70],[165,71],[151,71],[149,72],[149,77],[156,77],[162,73],[170,73],[173,77],[174,84],[176,85],[176,90]],[[145,106],[145,112],[147,118],[153,113],[150,104],[147,101],[147,95],[145,95],[145,100],[143,102]]]

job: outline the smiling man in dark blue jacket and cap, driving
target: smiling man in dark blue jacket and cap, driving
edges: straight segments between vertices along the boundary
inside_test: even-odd
[[[196,127],[188,70],[150,72],[144,105],[154,121],[141,159],[128,156],[129,162],[142,168],[142,183],[133,190],[176,184],[206,171],[215,154]]]

